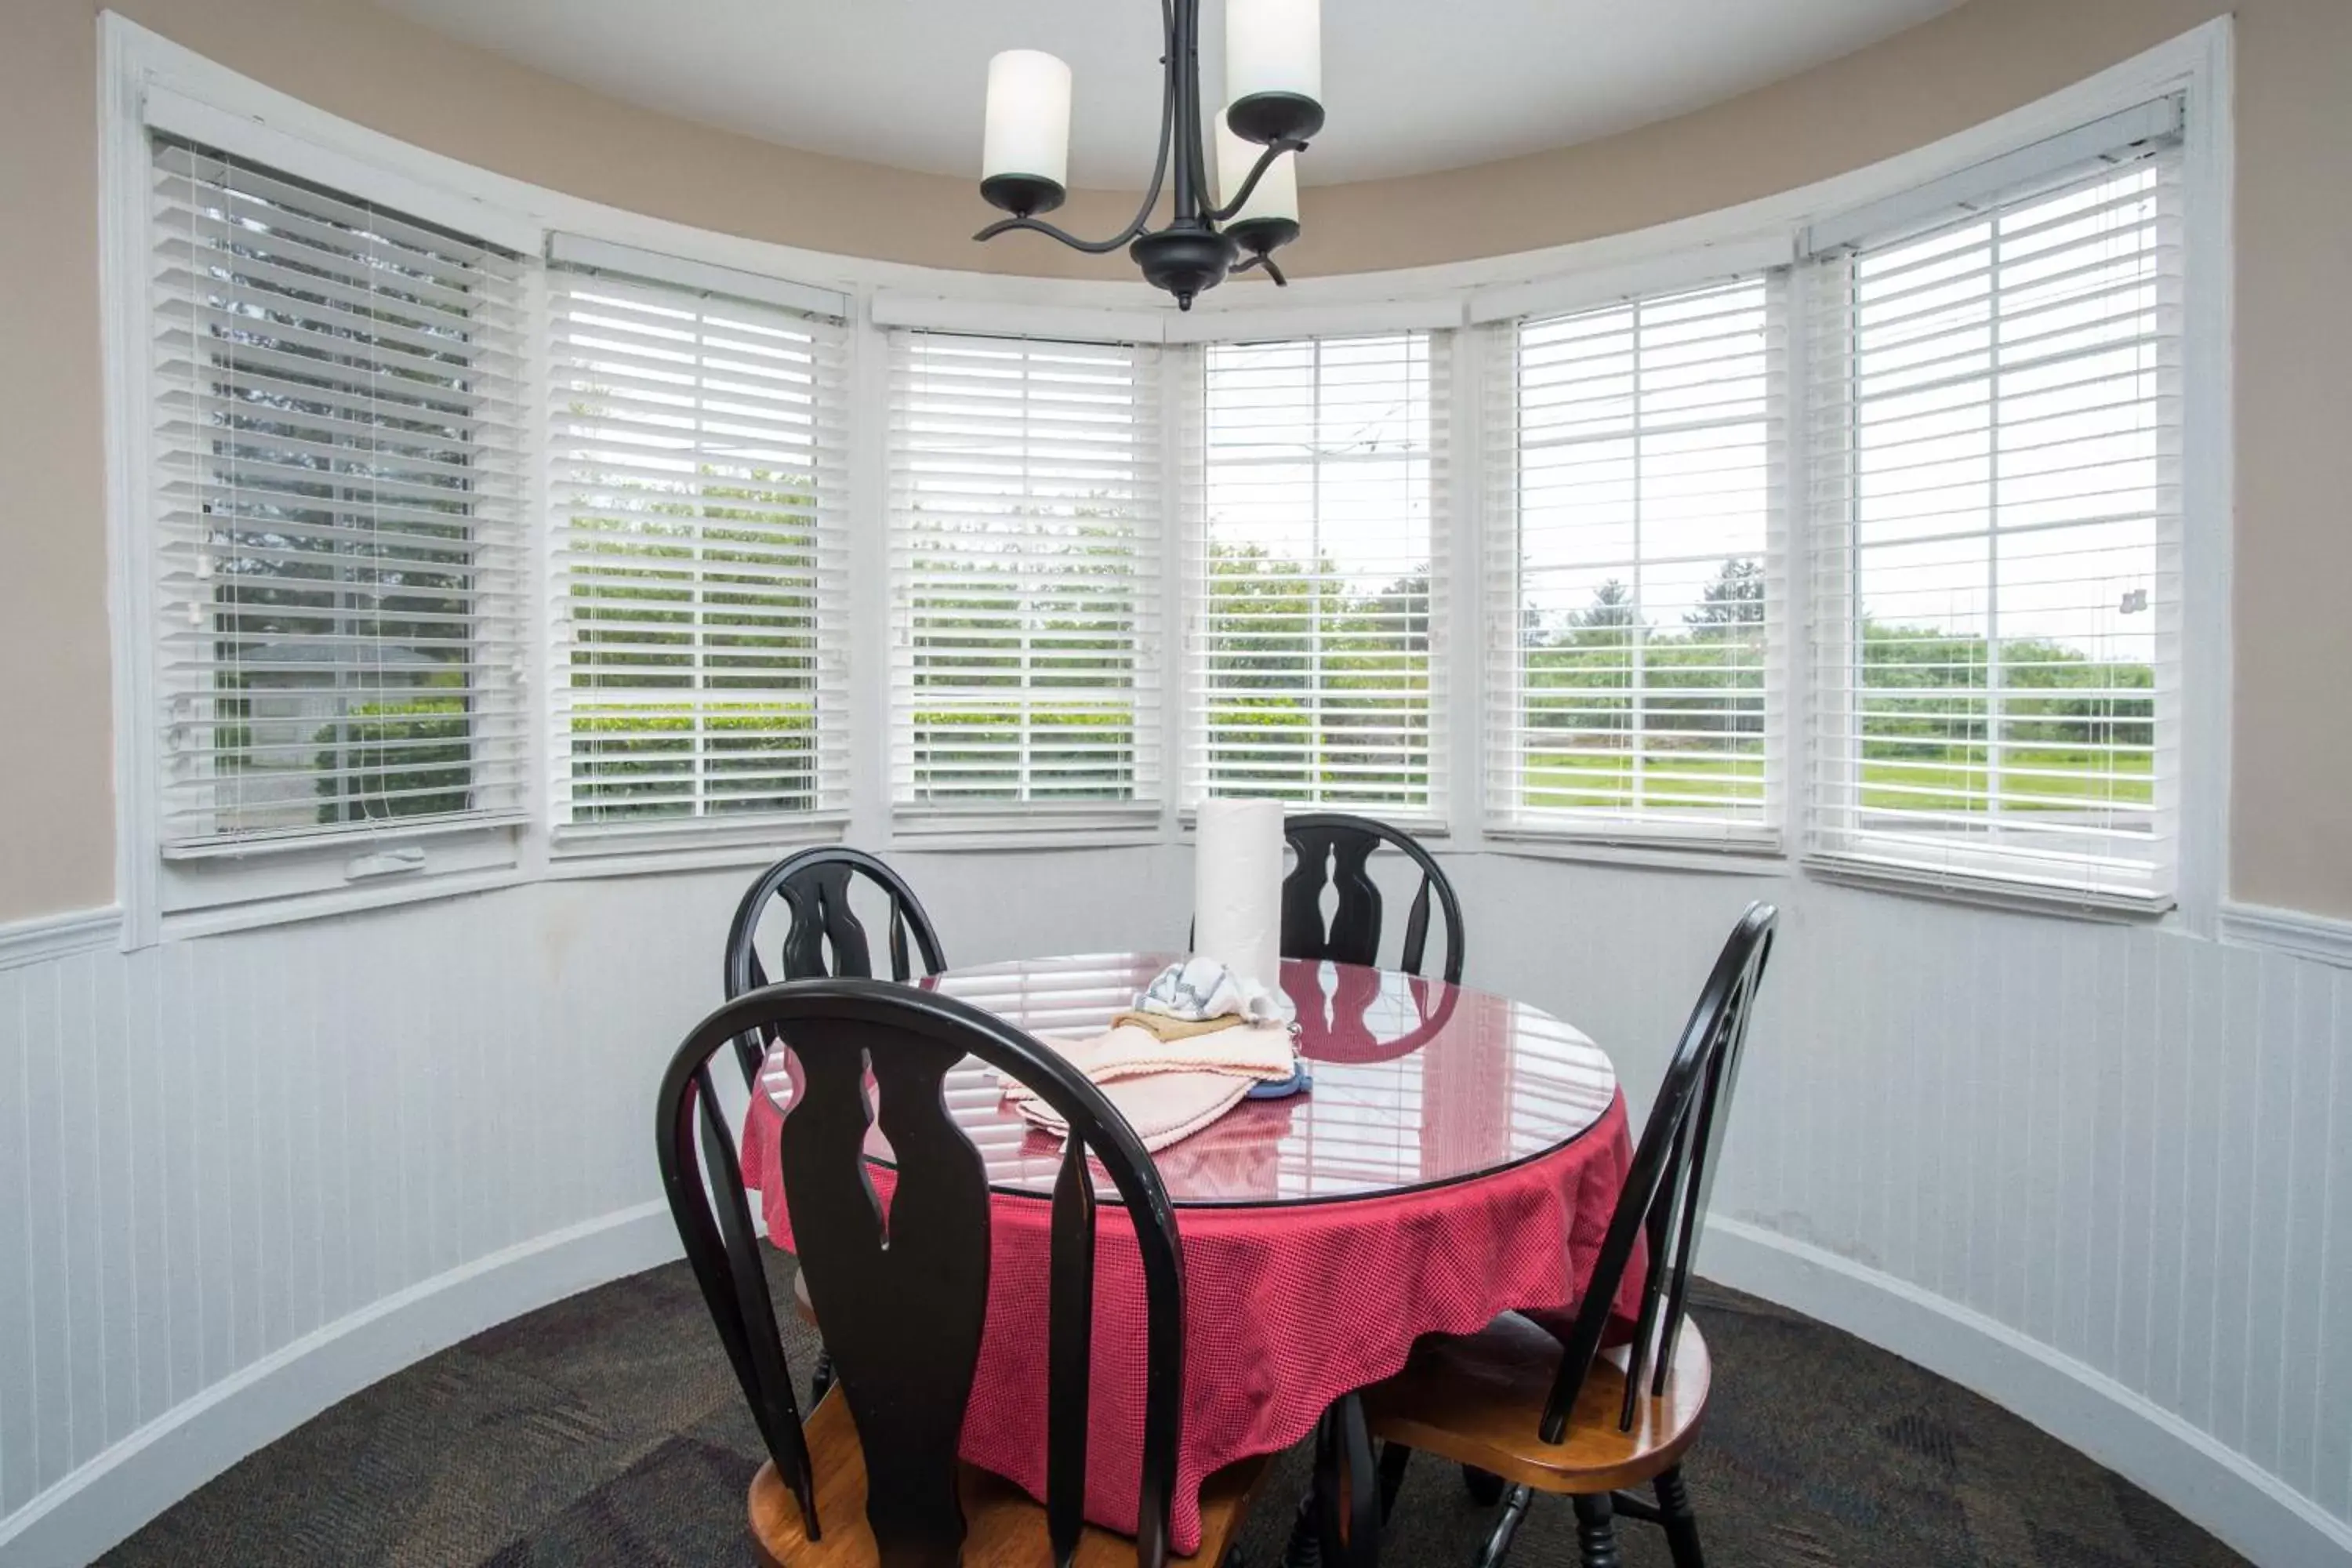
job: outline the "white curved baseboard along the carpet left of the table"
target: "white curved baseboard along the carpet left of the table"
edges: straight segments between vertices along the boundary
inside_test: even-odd
[[[510,1246],[230,1373],[0,1521],[0,1563],[75,1568],[339,1399],[459,1340],[680,1255],[668,1204]]]

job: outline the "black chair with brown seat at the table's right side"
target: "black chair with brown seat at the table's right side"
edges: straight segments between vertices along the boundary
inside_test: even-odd
[[[1383,1512],[1409,1455],[1425,1450],[1508,1483],[1479,1556],[1486,1568],[1510,1549],[1538,1490],[1576,1500],[1585,1568],[1616,1568],[1618,1514],[1663,1526],[1675,1568],[1703,1568],[1682,1455],[1708,1413],[1710,1363],[1684,1307],[1776,919],[1771,905],[1748,905],[1724,943],[1642,1128],[1566,1338],[1505,1314],[1472,1335],[1423,1340],[1402,1373],[1364,1392],[1369,1432],[1388,1443]],[[1628,1345],[1604,1352],[1609,1314],[1642,1239],[1649,1274],[1639,1321]],[[1623,1490],[1635,1486],[1651,1486],[1656,1502]]]

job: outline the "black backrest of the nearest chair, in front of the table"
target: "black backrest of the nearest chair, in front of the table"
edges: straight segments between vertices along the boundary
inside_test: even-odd
[[[1183,1253],[1167,1187],[1127,1119],[1061,1056],[981,1009],[887,980],[788,980],[724,1004],[677,1048],[661,1079],[661,1182],[710,1319],[750,1401],[776,1474],[811,1540],[816,1483],[776,1333],[736,1145],[715,1114],[710,1058],[746,1034],[776,1034],[800,1058],[779,1133],[809,1305],[826,1326],[842,1399],[866,1453],[866,1519],[884,1568],[957,1561],[957,1436],[988,1312],[988,1178],[948,1117],[943,1081],[967,1053],[1016,1077],[1070,1126],[1054,1182],[1047,1279],[1047,1535],[1077,1552],[1087,1493],[1089,1338],[1096,1192],[1087,1157],[1120,1194],[1143,1262],[1143,1467],[1136,1552],[1169,1552],[1183,1413]],[[896,1161],[884,1225],[866,1166],[868,1074]],[[696,1166],[696,1138],[703,1166]],[[713,1199],[717,1199],[713,1211]]]

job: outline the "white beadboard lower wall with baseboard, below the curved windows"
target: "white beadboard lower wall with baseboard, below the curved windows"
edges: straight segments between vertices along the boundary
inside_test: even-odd
[[[898,853],[948,957],[1183,940],[1181,846]],[[1446,856],[1475,985],[1649,1105],[1783,907],[1703,1272],[2352,1563],[2352,971],[1802,877]],[[0,1561],[80,1563],[334,1399],[675,1253],[661,1063],[748,870],[0,969]]]

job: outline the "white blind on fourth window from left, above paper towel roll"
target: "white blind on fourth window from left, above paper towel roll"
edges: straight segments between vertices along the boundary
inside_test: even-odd
[[[1442,813],[1451,339],[1202,353],[1185,797]]]

